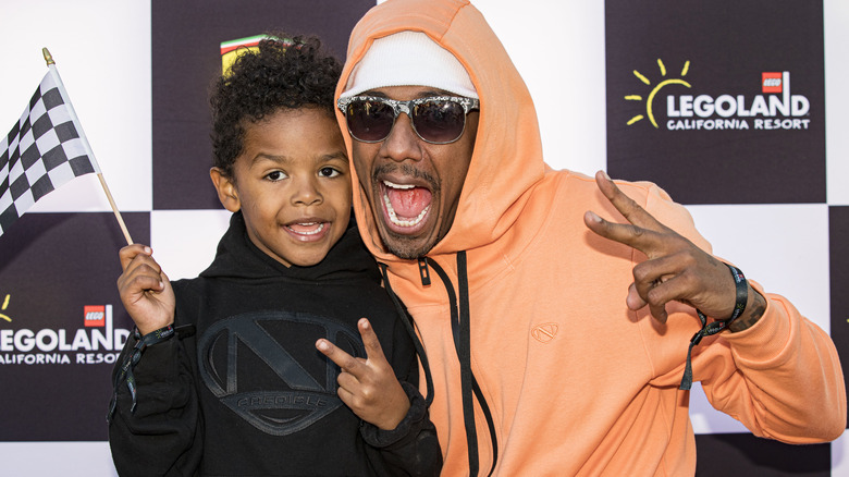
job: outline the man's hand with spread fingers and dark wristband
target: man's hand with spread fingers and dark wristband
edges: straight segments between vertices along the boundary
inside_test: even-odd
[[[623,194],[602,171],[595,173],[595,183],[607,200],[630,223],[608,222],[592,211],[583,222],[594,233],[633,247],[649,258],[633,267],[633,283],[628,289],[626,303],[632,310],[649,305],[652,316],[666,322],[666,303],[678,301],[699,308],[715,319],[731,316],[736,286],[728,267],[696,244],[667,228],[636,201]],[[760,298],[760,299],[759,299]],[[765,301],[749,288],[749,303],[740,321],[745,328],[763,315]]]

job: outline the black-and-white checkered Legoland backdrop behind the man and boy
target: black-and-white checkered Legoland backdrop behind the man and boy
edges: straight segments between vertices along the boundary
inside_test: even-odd
[[[222,42],[283,29],[319,35],[344,58],[373,4],[3,2],[0,134],[49,48],[133,241],[172,279],[194,277],[229,219],[208,175]],[[656,182],[716,255],[788,296],[849,363],[846,2],[476,4],[531,89],[552,167]],[[115,288],[125,243],[95,175],[0,235],[0,476],[115,475],[106,413],[132,327]],[[700,476],[849,476],[846,437],[756,439],[698,386],[691,416]]]

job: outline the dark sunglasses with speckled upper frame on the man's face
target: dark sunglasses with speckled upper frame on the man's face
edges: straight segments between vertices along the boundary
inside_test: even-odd
[[[350,96],[339,100],[345,113],[348,132],[361,143],[380,143],[389,137],[395,119],[402,112],[413,123],[413,131],[431,144],[453,143],[466,129],[466,114],[480,109],[480,101],[455,96],[396,101],[373,96]]]

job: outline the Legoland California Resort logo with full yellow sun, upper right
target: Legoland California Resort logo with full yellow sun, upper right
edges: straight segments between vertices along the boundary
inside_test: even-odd
[[[810,101],[805,96],[790,94],[790,72],[763,72],[761,74],[761,94],[747,96],[739,93],[710,95],[666,95],[662,90],[667,86],[681,86],[693,89],[685,77],[690,70],[686,61],[680,73],[666,77],[666,65],[657,60],[660,81],[635,70],[633,75],[651,89],[647,95],[625,96],[626,101],[644,103],[644,114],[630,118],[627,125],[636,125],[643,120],[655,129],[667,131],[722,131],[722,130],[808,130]],[[665,99],[666,121],[659,121],[655,107]]]

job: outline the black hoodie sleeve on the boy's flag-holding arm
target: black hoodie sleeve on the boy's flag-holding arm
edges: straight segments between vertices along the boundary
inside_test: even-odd
[[[114,375],[133,353],[131,335]],[[136,408],[126,381],[118,384],[115,407],[109,420],[109,445],[119,475],[190,476],[202,455],[202,421],[195,393],[190,360],[179,338],[144,350],[133,369]]]

